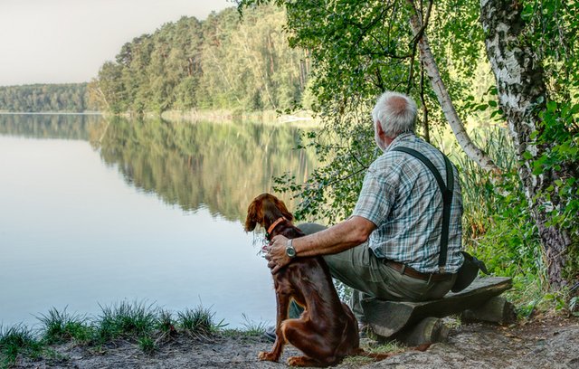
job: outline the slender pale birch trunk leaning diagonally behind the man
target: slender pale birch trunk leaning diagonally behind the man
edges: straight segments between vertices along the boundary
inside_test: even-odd
[[[413,0],[408,0],[408,2],[413,7],[410,25],[412,26],[414,37],[417,37],[422,33],[422,19],[416,11]],[[418,40],[418,49],[420,50],[420,57],[424,65],[424,70],[431,80],[432,90],[436,93],[444,117],[448,120],[460,147],[462,147],[467,156],[474,160],[479,166],[486,170],[499,173],[500,169],[495,165],[487,153],[477,147],[472,140],[470,140],[456,109],[454,109],[449,91],[446,90],[446,86],[444,86],[444,82],[441,79],[441,73],[439,72],[438,65],[432,56],[431,47],[425,33],[422,33],[422,36],[420,36],[420,39]]]

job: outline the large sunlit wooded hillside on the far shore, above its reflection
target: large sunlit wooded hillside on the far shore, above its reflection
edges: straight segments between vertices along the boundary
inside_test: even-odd
[[[308,55],[289,47],[285,19],[272,5],[184,16],[125,43],[90,97],[113,113],[290,109],[302,103]]]

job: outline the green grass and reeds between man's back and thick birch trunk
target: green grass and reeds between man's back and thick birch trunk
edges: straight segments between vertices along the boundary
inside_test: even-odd
[[[460,150],[451,150],[462,189],[463,242],[492,274],[512,277],[517,291],[534,296],[547,285],[546,264],[518,180],[514,148],[505,128],[479,128],[472,137],[503,172],[489,174]]]

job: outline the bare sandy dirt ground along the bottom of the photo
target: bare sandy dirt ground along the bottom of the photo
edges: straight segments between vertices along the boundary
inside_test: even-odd
[[[298,352],[289,347],[278,363],[260,362],[271,343],[239,333],[195,340],[181,336],[154,355],[120,342],[100,349],[61,345],[57,358],[26,360],[18,368],[282,368]],[[382,362],[348,359],[338,368],[579,368],[579,318],[551,317],[502,327],[474,324],[451,330],[447,343],[407,351]]]

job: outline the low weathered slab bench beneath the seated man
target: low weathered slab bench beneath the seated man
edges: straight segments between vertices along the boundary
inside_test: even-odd
[[[489,277],[475,279],[458,293],[448,293],[432,301],[362,300],[365,318],[380,341],[396,339],[407,345],[441,342],[448,328],[441,317],[460,314],[466,321],[505,324],[515,319],[515,310],[505,298],[498,297],[511,289],[512,279]]]

